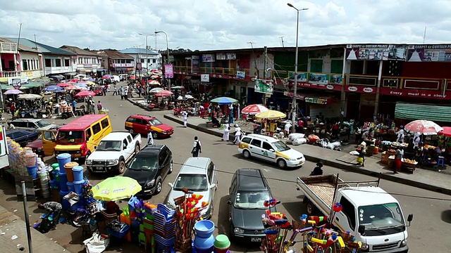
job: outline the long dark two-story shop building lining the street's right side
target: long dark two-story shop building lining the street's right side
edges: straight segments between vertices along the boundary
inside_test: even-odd
[[[173,53],[175,82],[199,92],[235,96],[291,110],[295,48],[243,48]],[[443,109],[419,114],[424,104],[450,103],[451,45],[324,45],[299,47],[297,104],[303,115],[372,121],[432,119],[451,122]],[[271,88],[271,89],[268,89]],[[414,111],[415,115],[409,113]],[[451,110],[450,114],[451,114]]]

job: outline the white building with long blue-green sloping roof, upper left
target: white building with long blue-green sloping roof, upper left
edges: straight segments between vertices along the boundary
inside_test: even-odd
[[[10,40],[18,41],[17,38]],[[77,70],[75,53],[30,39],[21,38],[20,44],[29,48],[37,48],[37,50],[41,51],[42,56],[44,57],[44,74],[47,76],[52,74],[67,74]]]

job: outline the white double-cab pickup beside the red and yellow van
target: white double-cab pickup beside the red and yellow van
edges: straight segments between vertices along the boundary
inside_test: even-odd
[[[129,132],[112,132],[101,139],[96,150],[86,159],[91,173],[115,171],[122,174],[125,164],[141,149],[141,135]]]

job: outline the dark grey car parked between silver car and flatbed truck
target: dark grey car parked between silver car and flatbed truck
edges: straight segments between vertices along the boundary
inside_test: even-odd
[[[265,237],[261,214],[265,214],[266,200],[271,189],[260,169],[238,169],[229,188],[230,231],[232,240],[260,243]],[[276,207],[271,207],[276,212]]]

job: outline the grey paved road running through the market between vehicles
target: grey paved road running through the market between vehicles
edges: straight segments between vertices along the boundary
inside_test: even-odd
[[[302,196],[295,190],[294,182],[297,176],[307,176],[309,174],[309,171],[314,167],[314,164],[311,162],[307,162],[300,169],[282,171],[271,164],[242,159],[237,154],[236,145],[224,143],[219,138],[209,134],[197,132],[193,129],[185,129],[167,119],[163,119],[163,114],[166,112],[144,111],[130,104],[128,101],[121,100],[119,96],[96,97],[96,100],[101,100],[103,105],[109,109],[113,131],[123,130],[125,118],[134,113],[156,115],[162,122],[175,127],[175,134],[171,138],[156,140],[157,144],[165,143],[173,151],[174,172],[163,183],[162,192],[152,197],[149,201],[158,203],[166,199],[169,190],[167,183],[175,179],[177,172],[180,170],[180,165],[190,156],[194,136],[199,136],[203,147],[202,155],[211,157],[218,169],[217,176],[219,183],[216,200],[214,201],[214,216],[212,217],[212,220],[217,226],[216,233],[227,233],[228,231],[228,205],[226,204],[228,200],[228,187],[233,172],[238,168],[258,168],[264,170],[264,174],[268,178],[268,182],[273,190],[274,197],[282,202],[279,206],[279,211],[285,212],[292,219],[298,219],[304,213]],[[55,122],[60,122],[60,120],[55,120]],[[331,174],[340,173],[340,177],[347,181],[372,179],[369,176],[354,174],[331,167],[325,167],[325,171]],[[106,178],[106,176],[88,175],[94,184]],[[443,240],[443,236],[449,234],[451,230],[451,201],[449,196],[410,186],[403,186],[390,181],[381,181],[381,187],[390,193],[397,194],[395,197],[402,205],[404,216],[407,216],[409,213],[414,214],[412,227],[408,230],[409,245],[411,247],[410,252],[451,252],[451,242],[449,240]],[[4,194],[0,194],[0,205],[11,210],[20,209],[21,203],[16,201],[14,189],[4,186],[3,181],[0,183],[0,188],[4,190]],[[30,217],[31,222],[38,221],[39,211],[36,210],[36,207],[36,204],[30,204],[30,209],[35,210],[32,212],[32,217]],[[16,213],[16,215],[22,216],[23,218],[23,214]],[[56,231],[51,231],[47,235],[66,247],[70,252],[80,252],[82,250],[82,246],[80,245],[82,242],[80,228],[76,230],[68,225],[59,225]],[[140,249],[128,244],[123,244],[121,248],[113,247],[106,252],[125,252],[128,249],[140,252]],[[243,246],[233,246],[232,249],[233,252],[246,251]]]

